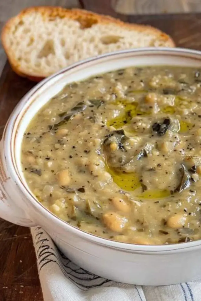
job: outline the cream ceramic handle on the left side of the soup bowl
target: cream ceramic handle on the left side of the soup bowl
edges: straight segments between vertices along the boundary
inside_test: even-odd
[[[9,177],[1,152],[2,141],[0,142],[0,218],[20,226],[36,226],[27,213],[25,196],[14,180]]]

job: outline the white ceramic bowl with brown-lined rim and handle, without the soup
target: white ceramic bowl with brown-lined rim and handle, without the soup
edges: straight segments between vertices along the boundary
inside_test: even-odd
[[[165,285],[201,278],[201,240],[171,245],[120,243],[58,219],[29,190],[20,164],[23,133],[36,112],[69,82],[129,66],[201,67],[201,52],[179,48],[131,49],[78,62],[36,85],[19,102],[0,143],[0,217],[44,228],[60,250],[82,268],[131,284]]]

